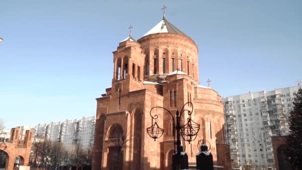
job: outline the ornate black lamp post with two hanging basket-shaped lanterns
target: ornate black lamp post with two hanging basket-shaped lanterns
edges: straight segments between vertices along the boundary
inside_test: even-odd
[[[185,108],[186,105],[191,106],[192,109],[187,110]],[[182,139],[184,139],[185,141],[190,143],[196,139],[197,133],[200,129],[200,125],[191,119],[191,114],[193,112],[193,103],[189,101],[182,106],[180,112],[178,110],[176,110],[176,126],[175,126],[174,116],[168,109],[166,109],[164,107],[159,107],[159,106],[151,108],[150,116],[152,118],[152,125],[149,128],[147,128],[147,133],[151,138],[154,139],[154,141],[156,141],[157,138],[160,138],[163,135],[164,129],[160,128],[156,122],[156,119],[158,118],[158,114],[155,113],[153,116],[151,114],[151,112],[154,108],[162,108],[163,110],[167,111],[172,117],[173,136],[174,136],[174,155],[176,156],[175,147],[177,147],[177,153],[181,152],[180,136],[182,137]],[[187,112],[187,114],[188,114],[187,123],[184,125],[181,125],[180,118],[184,112]],[[177,138],[176,140],[175,140],[175,129],[176,129],[176,138]],[[176,164],[176,167],[180,167],[180,161],[179,161],[178,157],[176,157],[175,160],[176,161],[175,161],[175,163],[173,162],[173,165]]]

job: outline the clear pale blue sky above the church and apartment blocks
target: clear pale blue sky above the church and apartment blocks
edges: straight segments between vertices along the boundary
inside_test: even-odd
[[[301,0],[0,0],[0,119],[11,128],[95,115],[112,51],[166,17],[199,46],[222,96],[302,79]]]

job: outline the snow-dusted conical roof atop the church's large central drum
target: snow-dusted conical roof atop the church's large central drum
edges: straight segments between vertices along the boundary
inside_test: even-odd
[[[156,33],[176,33],[176,34],[187,36],[185,33],[183,33],[181,30],[176,28],[169,21],[167,21],[165,17],[158,24],[156,24],[150,31],[148,31],[145,35],[143,35],[143,37]]]

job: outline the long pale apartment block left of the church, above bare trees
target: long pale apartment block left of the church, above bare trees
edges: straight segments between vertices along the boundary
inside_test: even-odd
[[[35,127],[35,137],[44,136],[53,142],[62,142],[67,148],[73,144],[88,148],[93,146],[94,125],[95,116],[38,124]]]

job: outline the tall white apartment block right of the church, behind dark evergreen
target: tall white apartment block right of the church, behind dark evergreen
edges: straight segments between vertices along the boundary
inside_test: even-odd
[[[222,98],[233,168],[274,168],[271,136],[289,132],[288,117],[299,86]]]

